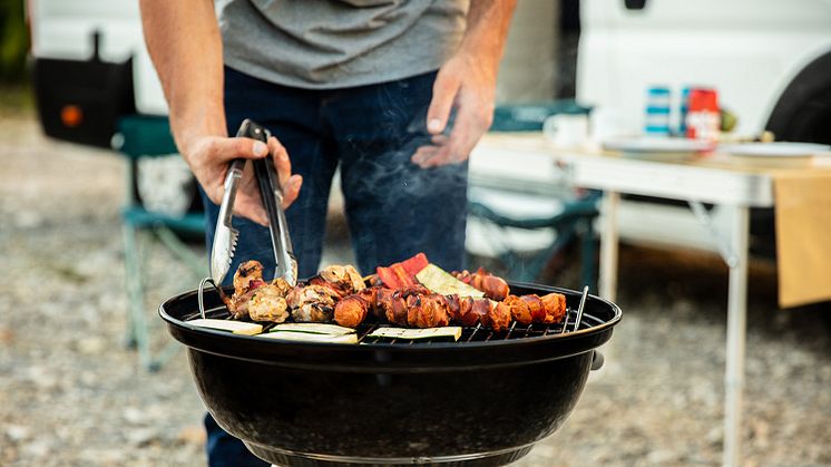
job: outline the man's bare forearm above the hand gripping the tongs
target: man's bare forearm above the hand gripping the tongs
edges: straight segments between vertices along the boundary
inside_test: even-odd
[[[140,0],[145,41],[170,111],[179,152],[225,136],[222,40],[209,0]]]

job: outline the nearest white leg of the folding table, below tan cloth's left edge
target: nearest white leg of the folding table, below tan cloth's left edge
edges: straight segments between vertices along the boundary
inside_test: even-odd
[[[742,392],[744,390],[744,348],[747,331],[747,237],[750,213],[735,206],[731,221],[731,249],[736,262],[730,267],[727,296],[727,364],[724,373],[724,458],[736,467],[742,448]]]

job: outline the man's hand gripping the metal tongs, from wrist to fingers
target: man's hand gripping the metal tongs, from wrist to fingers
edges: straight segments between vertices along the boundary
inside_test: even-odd
[[[267,145],[251,138],[199,137],[188,145],[185,159],[208,198],[219,204],[225,192],[225,175],[231,160],[235,158],[260,159],[268,154],[274,158],[280,186],[283,188],[283,207],[286,208],[297,198],[303,178],[296,174],[292,175],[289,154],[273,136],[268,138]],[[247,217],[261,225],[268,224],[252,164],[245,165],[243,179],[234,202],[234,214]]]

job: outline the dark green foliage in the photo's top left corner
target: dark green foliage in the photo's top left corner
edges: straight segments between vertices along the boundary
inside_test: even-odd
[[[21,81],[26,78],[29,31],[23,1],[0,0],[0,81]]]

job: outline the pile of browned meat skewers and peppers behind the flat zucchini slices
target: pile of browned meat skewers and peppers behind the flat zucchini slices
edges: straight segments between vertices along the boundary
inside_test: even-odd
[[[351,265],[329,266],[291,288],[282,279],[266,283],[262,265],[248,261],[234,275],[235,292],[226,304],[235,319],[282,323],[291,315],[295,322],[334,320],[345,328],[356,328],[372,315],[412,328],[461,324],[504,331],[511,321],[550,324],[566,314],[565,295],[511,295],[501,278],[481,267],[453,276],[418,254],[378,271],[380,283],[374,281],[369,288]],[[391,288],[390,283],[403,285]]]

